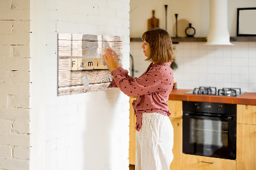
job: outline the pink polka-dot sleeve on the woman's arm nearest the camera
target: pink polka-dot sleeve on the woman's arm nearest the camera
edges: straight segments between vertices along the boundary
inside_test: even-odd
[[[118,72],[118,70],[113,70],[111,73],[114,77],[116,86],[129,97],[150,95],[150,93],[162,90],[159,87],[159,84],[163,83],[164,77],[159,69],[148,70],[148,72],[141,75],[140,78],[133,79],[132,81],[131,79],[129,81],[129,79]]]

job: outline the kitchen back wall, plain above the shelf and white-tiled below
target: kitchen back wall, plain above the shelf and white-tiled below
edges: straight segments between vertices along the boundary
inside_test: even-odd
[[[168,4],[168,32],[175,24],[174,13],[188,19],[196,29],[195,36],[207,36],[209,30],[209,1],[131,1],[131,37],[141,37],[147,31],[147,19],[151,11],[156,10],[160,27],[165,28],[164,4]],[[228,30],[230,36],[236,36],[236,8],[255,7],[256,1],[228,1]],[[170,7],[170,8],[169,8]],[[143,10],[141,10],[143,8]],[[157,16],[157,12],[159,13]],[[169,17],[169,15],[171,15]],[[140,17],[138,17],[140,16]],[[140,20],[140,21],[139,21]],[[173,22],[173,23],[172,23]],[[141,24],[139,24],[141,23]],[[145,71],[148,62],[141,50],[142,42],[131,42],[131,54],[134,58],[134,73],[138,77]],[[174,71],[174,79],[180,89],[193,89],[199,86],[217,88],[241,88],[244,92],[256,91],[256,42],[232,42],[234,46],[205,46],[204,42],[180,42],[173,45],[179,68]]]

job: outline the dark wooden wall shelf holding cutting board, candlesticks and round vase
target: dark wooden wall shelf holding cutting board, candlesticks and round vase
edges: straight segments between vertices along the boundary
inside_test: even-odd
[[[142,42],[142,40],[141,38],[130,38],[130,42]],[[172,37],[172,42],[206,42],[206,37]],[[256,36],[232,36],[230,42],[256,42]]]

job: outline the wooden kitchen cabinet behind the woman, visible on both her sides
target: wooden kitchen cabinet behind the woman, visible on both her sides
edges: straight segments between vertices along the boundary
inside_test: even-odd
[[[132,108],[132,101],[136,100],[135,97],[130,98],[130,139],[129,139],[129,164],[135,165],[136,161],[136,117]],[[173,161],[170,169],[181,169],[181,155],[182,155],[182,101],[181,100],[168,100],[170,112],[170,120],[172,121],[174,131],[173,141]]]

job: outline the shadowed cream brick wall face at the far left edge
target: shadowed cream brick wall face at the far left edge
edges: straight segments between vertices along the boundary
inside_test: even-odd
[[[29,2],[0,1],[0,169],[29,169]]]

